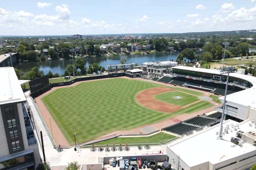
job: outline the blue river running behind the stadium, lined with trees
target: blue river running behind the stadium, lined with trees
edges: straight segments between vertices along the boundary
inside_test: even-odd
[[[144,62],[152,62],[152,61],[169,61],[172,59],[176,61],[179,52],[172,52],[171,57],[170,53],[156,53],[156,54],[148,54],[148,55],[123,55],[123,56],[112,56],[112,57],[89,57],[83,59],[85,61],[85,66],[88,67],[92,63],[98,63],[100,66],[105,67],[108,65],[119,64],[121,58],[125,57],[126,63],[137,63],[141,65]],[[196,55],[200,53],[196,51]],[[75,62],[75,59],[74,59]],[[22,62],[18,63],[15,68],[22,70],[23,73],[27,73],[33,67],[38,67],[39,70],[43,70],[44,74],[47,74],[49,70],[55,74],[58,73],[62,75],[65,71],[66,65],[72,64],[72,60],[52,60],[52,61],[35,61],[35,62]]]

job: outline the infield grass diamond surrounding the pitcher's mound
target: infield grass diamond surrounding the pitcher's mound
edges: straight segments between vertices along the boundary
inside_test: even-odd
[[[181,99],[174,98],[175,96],[180,96],[182,98]],[[179,91],[168,91],[165,93],[155,95],[154,98],[166,103],[176,104],[179,106],[185,106],[187,104],[190,104],[199,100],[197,96],[192,96]]]

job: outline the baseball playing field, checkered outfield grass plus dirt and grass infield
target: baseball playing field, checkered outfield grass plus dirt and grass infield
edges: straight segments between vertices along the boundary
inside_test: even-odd
[[[41,100],[69,144],[213,106],[197,91],[114,78],[58,88]],[[148,105],[148,103],[150,105]]]

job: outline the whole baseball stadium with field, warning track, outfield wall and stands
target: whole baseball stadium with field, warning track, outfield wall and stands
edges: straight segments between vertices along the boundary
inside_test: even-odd
[[[170,138],[179,137],[218,124],[222,116],[218,97],[225,93],[226,75],[219,71],[217,75],[215,70],[199,74],[206,69],[194,68],[199,72],[192,72],[190,67],[171,64],[170,74],[162,74],[162,68],[151,69],[150,63],[140,67],[119,64],[114,69],[107,66],[106,75],[53,83],[36,89],[31,96],[55,146],[88,145],[120,135],[159,131]],[[243,83],[229,85],[228,95],[251,85]],[[206,117],[208,113],[214,114]],[[74,133],[79,134],[76,139]]]

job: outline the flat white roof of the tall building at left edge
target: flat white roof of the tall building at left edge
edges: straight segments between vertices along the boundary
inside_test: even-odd
[[[0,67],[1,88],[0,105],[13,102],[24,102],[26,97],[22,91],[13,67]]]

